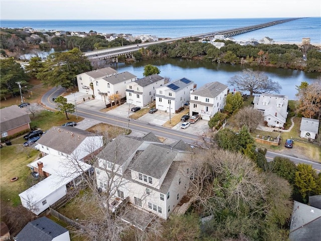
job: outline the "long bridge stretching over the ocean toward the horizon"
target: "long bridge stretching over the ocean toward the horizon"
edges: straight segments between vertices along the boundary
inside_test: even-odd
[[[222,31],[205,33],[205,34],[197,34],[197,35],[192,35],[192,36],[186,36],[186,37],[180,37],[180,38],[168,39],[168,40],[161,40],[161,41],[156,41],[156,42],[141,43],[139,45],[133,44],[133,45],[126,45],[123,47],[89,51],[89,52],[85,53],[85,56],[87,56],[89,59],[96,58],[98,61],[100,59],[108,59],[108,58],[113,58],[113,57],[117,57],[120,55],[131,54],[132,52],[138,51],[141,48],[148,47],[149,45],[155,45],[155,44],[161,44],[161,43],[171,43],[173,41],[188,38],[188,37],[209,38],[209,37],[214,37],[215,35],[224,35],[226,38],[226,37],[231,37],[231,36],[244,34],[244,33],[251,32],[251,31],[255,31],[258,29],[262,29],[262,28],[267,28],[267,27],[277,25],[277,24],[283,24],[283,23],[297,20],[297,19],[300,19],[300,18],[277,20],[277,21],[273,21],[273,22],[268,22],[268,23],[258,24],[258,25],[248,26],[248,27],[222,30]]]

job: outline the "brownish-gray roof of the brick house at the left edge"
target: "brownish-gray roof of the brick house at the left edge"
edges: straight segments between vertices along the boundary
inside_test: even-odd
[[[0,129],[1,133],[30,123],[29,114],[24,108],[12,105],[0,109]]]

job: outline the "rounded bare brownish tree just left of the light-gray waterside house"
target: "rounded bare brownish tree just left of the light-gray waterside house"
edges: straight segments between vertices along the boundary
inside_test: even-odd
[[[246,126],[249,132],[253,132],[258,125],[263,124],[264,116],[261,111],[247,106],[236,113],[235,119],[242,126]]]

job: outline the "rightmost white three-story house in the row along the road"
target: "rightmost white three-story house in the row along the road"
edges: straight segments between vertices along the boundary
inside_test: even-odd
[[[210,120],[224,108],[228,86],[220,82],[203,85],[191,93],[190,115],[199,114],[202,119]]]

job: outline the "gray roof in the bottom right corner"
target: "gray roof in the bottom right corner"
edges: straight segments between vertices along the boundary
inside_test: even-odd
[[[290,224],[291,241],[319,241],[321,237],[321,209],[294,201]]]

